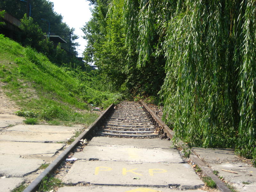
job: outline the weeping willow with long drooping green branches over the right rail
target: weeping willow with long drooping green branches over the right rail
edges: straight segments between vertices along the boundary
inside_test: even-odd
[[[137,66],[166,59],[159,95],[175,140],[256,158],[255,12],[255,0],[125,0]]]

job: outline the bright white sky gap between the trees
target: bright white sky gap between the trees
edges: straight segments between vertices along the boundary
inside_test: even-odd
[[[80,44],[78,47],[78,56],[82,56],[84,52],[86,40],[83,39],[83,31],[80,29],[85,22],[89,21],[92,14],[89,10],[90,6],[86,0],[49,0],[54,4],[54,11],[61,14],[63,22],[67,23],[69,28],[75,28],[75,34],[79,36],[76,40]],[[76,48],[77,49],[77,48]]]

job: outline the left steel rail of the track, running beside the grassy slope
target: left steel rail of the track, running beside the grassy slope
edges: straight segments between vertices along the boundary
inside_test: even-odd
[[[32,183],[28,185],[23,192],[33,192],[38,188],[38,185],[49,173],[53,172],[54,169],[68,156],[68,154],[78,145],[79,140],[89,136],[91,132],[97,127],[99,122],[108,115],[108,113],[114,108],[114,104],[111,104],[84,132],[82,132],[76,140],[74,140],[68,148],[66,148]]]

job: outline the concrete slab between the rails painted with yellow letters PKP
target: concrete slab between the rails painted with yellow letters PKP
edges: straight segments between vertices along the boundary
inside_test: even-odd
[[[195,189],[204,185],[189,164],[77,161],[63,182],[99,185],[177,187]]]

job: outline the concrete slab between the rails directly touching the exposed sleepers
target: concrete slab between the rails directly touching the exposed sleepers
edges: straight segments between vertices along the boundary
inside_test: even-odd
[[[161,139],[130,139],[114,137],[93,137],[88,145],[92,146],[124,146],[136,148],[173,148],[172,142]]]

